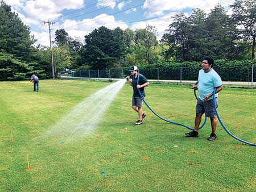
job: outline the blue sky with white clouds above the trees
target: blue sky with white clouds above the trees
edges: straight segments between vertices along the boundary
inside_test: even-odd
[[[217,3],[227,7],[234,0],[5,0],[17,12],[20,19],[30,26],[36,44],[49,46],[48,26],[43,21],[54,22],[51,26],[52,39],[55,31],[64,28],[74,39],[83,41],[84,36],[100,26],[123,30],[146,28],[147,24],[158,30],[162,37],[171,16],[177,12],[191,14],[200,8],[205,12]]]

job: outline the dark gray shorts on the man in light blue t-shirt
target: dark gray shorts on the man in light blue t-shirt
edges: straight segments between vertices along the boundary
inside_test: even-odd
[[[218,98],[215,98],[215,102],[216,102],[216,106],[218,107]],[[205,113],[205,115],[208,118],[213,118],[214,116],[216,116],[213,100],[210,99],[208,101],[202,101],[198,99],[196,103],[196,113],[197,114]]]

